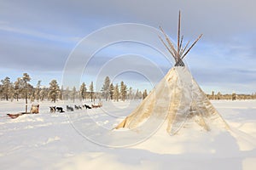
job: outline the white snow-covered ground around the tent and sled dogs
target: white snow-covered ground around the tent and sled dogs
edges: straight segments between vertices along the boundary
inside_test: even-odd
[[[0,169],[256,167],[256,100],[212,101],[230,125],[228,131],[206,132],[190,126],[170,136],[164,123],[156,133],[143,137],[140,132],[112,129],[139,101],[103,102],[100,109],[49,113],[49,106],[66,110],[66,105],[74,104],[39,102],[39,114],[10,119],[6,114],[24,111],[24,101],[0,101]]]

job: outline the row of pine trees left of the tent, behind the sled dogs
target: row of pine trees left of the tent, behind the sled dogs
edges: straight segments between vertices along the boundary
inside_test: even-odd
[[[94,88],[94,83],[90,82],[89,87],[82,82],[79,89],[76,87],[65,88],[59,86],[58,82],[54,79],[49,82],[49,87],[44,87],[41,85],[41,80],[38,81],[36,87],[33,87],[29,82],[31,77],[24,73],[23,77],[18,77],[15,82],[10,82],[9,77],[5,77],[1,80],[0,84],[0,99],[1,100],[19,100],[19,99],[30,99],[32,102],[35,100],[44,101],[45,99],[52,102],[57,100],[68,100],[72,99],[90,99],[90,101],[95,101],[96,99],[105,99],[113,101],[125,101],[126,99],[144,99],[148,92],[145,89],[143,92],[137,89],[136,93],[130,87],[128,88],[125,82],[113,84],[109,77],[105,77],[102,84],[102,90],[96,92]]]

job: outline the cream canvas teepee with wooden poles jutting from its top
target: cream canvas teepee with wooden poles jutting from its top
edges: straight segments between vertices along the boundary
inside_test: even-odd
[[[133,129],[143,126],[145,122],[149,122],[148,127],[151,127],[156,123],[152,120],[166,122],[166,131],[170,134],[175,134],[183,127],[189,127],[192,123],[207,131],[216,126],[229,128],[183,63],[183,58],[195,46],[202,34],[190,47],[189,42],[183,46],[183,36],[180,38],[180,18],[179,12],[177,46],[171,42],[160,27],[166,42],[159,36],[160,41],[175,59],[174,67],[143,99],[137,109],[115,127],[116,129],[123,127]]]

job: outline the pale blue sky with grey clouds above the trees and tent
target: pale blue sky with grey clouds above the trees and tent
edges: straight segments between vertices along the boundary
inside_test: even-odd
[[[254,7],[253,0],[2,0],[0,79],[9,76],[14,82],[27,72],[33,85],[42,80],[42,84],[48,86],[54,78],[61,84],[65,66],[79,44],[106,26],[122,23],[155,29],[162,26],[176,42],[177,14],[181,9],[185,40],[193,41],[204,34],[185,60],[201,88],[207,93],[214,90],[252,94],[256,92]],[[96,37],[81,53],[88,57],[87,49],[95,48],[100,41],[118,37],[121,32],[117,29],[114,30],[116,35]],[[102,77],[109,73],[114,83],[123,79],[133,88],[150,90],[172,67],[172,57],[148,46],[148,43],[160,44],[157,34],[145,31],[131,37],[136,39],[136,36],[146,42],[116,42],[99,48],[92,55],[90,65],[80,62],[84,68],[78,74],[79,80],[70,82],[89,84],[94,81],[100,87]]]

